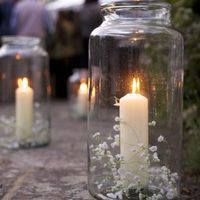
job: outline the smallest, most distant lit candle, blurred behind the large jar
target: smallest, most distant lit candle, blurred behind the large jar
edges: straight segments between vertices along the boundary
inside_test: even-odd
[[[87,115],[88,87],[86,83],[81,83],[78,91],[77,109],[80,116]]]

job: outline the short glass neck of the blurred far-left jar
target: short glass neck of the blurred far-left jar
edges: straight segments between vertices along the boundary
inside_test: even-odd
[[[2,38],[4,46],[12,48],[34,48],[40,46],[40,39],[35,37],[5,36]]]

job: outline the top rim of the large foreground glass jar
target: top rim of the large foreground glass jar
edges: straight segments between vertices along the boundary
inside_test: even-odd
[[[156,8],[166,8],[171,9],[171,4],[158,0],[109,0],[107,2],[101,3],[101,9],[112,10],[112,9],[120,9],[120,8],[138,8],[138,7],[155,7]]]

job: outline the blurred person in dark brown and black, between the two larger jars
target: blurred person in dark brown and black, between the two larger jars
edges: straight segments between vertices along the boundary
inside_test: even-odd
[[[81,42],[74,22],[76,17],[72,10],[61,10],[58,13],[54,45],[50,50],[53,96],[57,98],[67,98],[67,79],[73,68],[79,65]]]

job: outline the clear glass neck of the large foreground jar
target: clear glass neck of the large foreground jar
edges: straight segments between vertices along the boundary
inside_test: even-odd
[[[115,0],[102,5],[105,21],[171,25],[171,6],[156,0]]]

